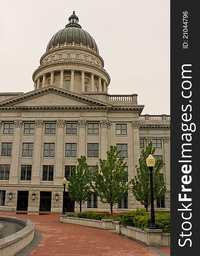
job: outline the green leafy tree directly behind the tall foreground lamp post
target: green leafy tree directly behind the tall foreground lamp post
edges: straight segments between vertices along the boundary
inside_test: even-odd
[[[131,179],[133,195],[137,201],[145,206],[146,210],[148,210],[148,206],[151,203],[149,168],[146,165],[146,158],[149,157],[149,154],[154,154],[154,152],[155,148],[152,149],[152,142],[150,142],[146,149],[142,150],[143,159],[139,159],[139,166],[135,166],[137,176]],[[164,165],[163,159],[157,159],[153,169],[154,200],[161,198],[166,192],[164,179],[159,180],[160,170]]]

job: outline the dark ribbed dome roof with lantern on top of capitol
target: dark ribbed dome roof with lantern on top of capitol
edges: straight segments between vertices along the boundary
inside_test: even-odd
[[[99,53],[94,39],[78,24],[78,17],[75,15],[75,12],[73,12],[73,15],[69,17],[69,22],[70,23],[68,23],[64,29],[58,31],[51,38],[46,50],[48,51],[51,47],[54,47],[57,44],[72,44],[74,42],[74,44],[89,46],[91,49],[94,49]]]

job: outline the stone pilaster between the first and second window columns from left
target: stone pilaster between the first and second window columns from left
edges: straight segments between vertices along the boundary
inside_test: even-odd
[[[22,120],[14,120],[14,140],[12,143],[12,158],[11,158],[9,184],[18,183],[19,154],[21,153],[21,150],[20,150],[21,127],[22,127]]]

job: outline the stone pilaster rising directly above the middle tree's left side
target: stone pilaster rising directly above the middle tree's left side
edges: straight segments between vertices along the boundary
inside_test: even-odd
[[[108,120],[100,121],[101,125],[101,155],[100,158],[106,159],[108,150],[108,138],[107,138],[107,128],[110,126],[111,122]]]

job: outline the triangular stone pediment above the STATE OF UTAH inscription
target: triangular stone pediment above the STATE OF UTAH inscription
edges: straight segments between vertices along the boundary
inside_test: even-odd
[[[1,107],[111,107],[111,104],[74,93],[68,90],[48,86],[24,93],[0,102]]]

